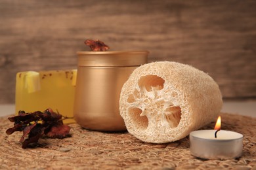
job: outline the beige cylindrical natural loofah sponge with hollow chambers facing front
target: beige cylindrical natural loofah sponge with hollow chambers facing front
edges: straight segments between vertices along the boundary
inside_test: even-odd
[[[211,76],[171,61],[135,69],[119,99],[120,114],[129,133],[149,143],[186,137],[216,120],[222,105],[219,86]]]

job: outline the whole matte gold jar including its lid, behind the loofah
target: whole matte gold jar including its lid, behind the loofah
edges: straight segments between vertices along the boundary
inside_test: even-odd
[[[126,129],[119,114],[121,88],[133,70],[147,63],[147,51],[77,52],[74,119],[98,131]]]

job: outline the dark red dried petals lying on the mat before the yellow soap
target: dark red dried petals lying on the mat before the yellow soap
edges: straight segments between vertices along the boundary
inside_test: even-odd
[[[19,111],[18,116],[10,117],[9,120],[14,122],[14,126],[7,129],[6,133],[11,135],[14,131],[23,131],[20,138],[22,148],[27,148],[32,143],[37,143],[40,137],[44,135],[51,138],[62,139],[67,137],[70,127],[63,124],[67,117],[53,112],[52,109],[46,109],[43,112],[24,112]],[[27,139],[25,139],[28,136]]]

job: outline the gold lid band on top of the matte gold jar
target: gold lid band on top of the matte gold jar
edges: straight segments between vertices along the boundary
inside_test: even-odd
[[[148,51],[77,52],[78,66],[139,66],[148,62]]]

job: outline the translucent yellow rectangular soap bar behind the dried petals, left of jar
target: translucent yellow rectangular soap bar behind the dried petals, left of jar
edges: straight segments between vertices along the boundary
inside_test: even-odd
[[[63,116],[73,117],[77,70],[26,71],[16,74],[16,114],[43,112],[47,108]],[[75,122],[64,120],[65,124]]]

